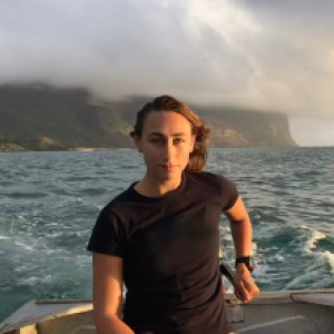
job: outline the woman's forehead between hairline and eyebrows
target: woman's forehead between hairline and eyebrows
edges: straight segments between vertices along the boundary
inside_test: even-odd
[[[149,135],[159,132],[163,135],[191,134],[190,122],[180,114],[174,111],[149,112],[145,119],[143,132]]]

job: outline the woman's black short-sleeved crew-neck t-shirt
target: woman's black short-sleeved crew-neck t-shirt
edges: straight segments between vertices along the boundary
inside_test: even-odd
[[[143,334],[225,333],[218,224],[238,197],[234,183],[185,171],[154,198],[134,186],[100,212],[88,244],[124,258],[124,321]]]

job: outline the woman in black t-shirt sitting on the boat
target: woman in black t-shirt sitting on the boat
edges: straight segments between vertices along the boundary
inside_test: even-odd
[[[252,226],[236,187],[203,171],[208,129],[161,96],[138,112],[131,137],[146,174],[101,210],[88,245],[97,332],[229,333],[217,261],[222,213],[238,258],[236,295],[248,302],[258,288],[249,274]]]

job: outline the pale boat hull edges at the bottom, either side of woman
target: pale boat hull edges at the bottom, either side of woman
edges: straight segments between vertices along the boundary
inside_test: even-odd
[[[334,289],[262,293],[248,304],[227,294],[226,305],[236,333],[334,334]],[[96,333],[91,302],[31,301],[0,324],[0,334],[51,333]]]

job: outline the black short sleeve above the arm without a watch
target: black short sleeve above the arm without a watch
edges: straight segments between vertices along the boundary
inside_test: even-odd
[[[124,224],[112,213],[112,208],[105,207],[92,228],[87,249],[92,253],[124,257],[125,244]]]

